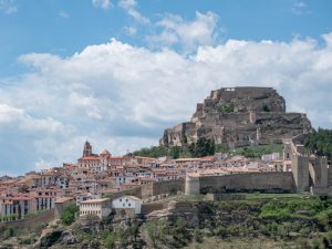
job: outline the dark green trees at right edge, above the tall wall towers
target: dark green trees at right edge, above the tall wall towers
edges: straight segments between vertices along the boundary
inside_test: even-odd
[[[319,128],[309,134],[304,143],[305,147],[319,156],[332,158],[332,129]]]

